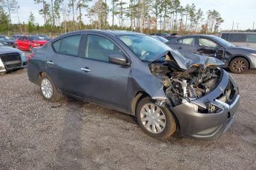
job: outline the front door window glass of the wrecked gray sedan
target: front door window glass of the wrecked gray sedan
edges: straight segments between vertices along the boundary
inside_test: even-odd
[[[109,55],[123,55],[119,47],[108,38],[99,35],[88,35],[86,39],[85,58],[108,61]]]

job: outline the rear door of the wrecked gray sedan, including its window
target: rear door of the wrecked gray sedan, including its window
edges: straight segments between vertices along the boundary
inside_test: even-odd
[[[79,95],[79,72],[82,64],[82,34],[70,35],[53,42],[53,52],[47,58],[47,72],[61,92]],[[82,64],[83,65],[83,64]]]

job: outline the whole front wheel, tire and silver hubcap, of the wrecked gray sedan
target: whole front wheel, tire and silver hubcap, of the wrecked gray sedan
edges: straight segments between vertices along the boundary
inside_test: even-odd
[[[151,111],[152,108],[154,108],[153,110],[158,110],[158,112],[153,112],[151,115],[148,111],[146,111],[146,108],[151,109]],[[151,100],[151,98],[146,97],[142,98],[140,103],[138,103],[136,112],[137,121],[140,127],[149,136],[156,139],[166,139],[171,137],[171,135],[174,135],[174,132],[177,129],[177,124],[174,116],[166,106],[157,106],[154,101]]]

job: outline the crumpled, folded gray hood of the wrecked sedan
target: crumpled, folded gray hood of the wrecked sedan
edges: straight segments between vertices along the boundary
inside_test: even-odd
[[[175,61],[180,69],[188,70],[191,67],[222,67],[224,65],[223,61],[220,61],[217,58],[207,57],[204,55],[197,55],[197,54],[180,54],[177,50],[175,51],[165,51],[163,54],[152,58],[150,62],[157,61],[160,58],[163,58],[166,55],[170,55],[171,58],[166,58],[165,61]]]

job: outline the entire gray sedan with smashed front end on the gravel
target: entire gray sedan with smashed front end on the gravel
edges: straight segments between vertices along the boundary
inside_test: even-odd
[[[27,74],[47,101],[68,95],[137,117],[145,133],[165,139],[216,139],[240,101],[222,61],[181,55],[140,33],[82,30],[54,38],[30,55]]]

